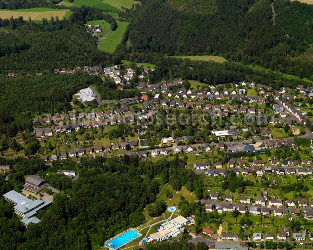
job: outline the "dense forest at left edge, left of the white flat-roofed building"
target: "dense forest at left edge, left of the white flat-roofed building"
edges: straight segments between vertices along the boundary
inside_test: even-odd
[[[31,129],[32,114],[69,111],[72,95],[99,81],[99,77],[83,73],[0,76],[0,134],[12,137]]]

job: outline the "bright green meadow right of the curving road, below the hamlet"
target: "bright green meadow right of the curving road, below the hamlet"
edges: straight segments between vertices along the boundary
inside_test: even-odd
[[[99,49],[105,52],[113,53],[116,46],[121,43],[123,35],[125,33],[128,22],[119,22],[116,21],[118,28],[115,31],[112,31],[110,35],[102,39],[99,43]]]

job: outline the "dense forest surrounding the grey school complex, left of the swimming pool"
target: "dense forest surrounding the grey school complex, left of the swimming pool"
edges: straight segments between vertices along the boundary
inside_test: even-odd
[[[8,161],[0,158],[1,163],[12,163]],[[77,250],[90,249],[92,244],[102,245],[107,238],[143,222],[143,208],[155,202],[159,192],[159,184],[153,180],[156,175],[162,176],[162,182],[169,182],[176,190],[183,185],[190,191],[201,190],[199,195],[202,195],[201,176],[185,170],[186,162],[178,157],[154,164],[128,155],[107,159],[83,157],[81,166],[66,160],[53,163],[49,169],[45,169],[39,158],[19,158],[14,163],[16,171],[9,172],[8,181],[0,176],[1,249]],[[30,170],[28,165],[32,166]],[[73,182],[58,175],[59,169],[76,170],[80,177]],[[18,191],[23,175],[35,173],[62,193],[54,195],[47,211],[39,212],[39,224],[25,228],[2,194],[13,188]]]

